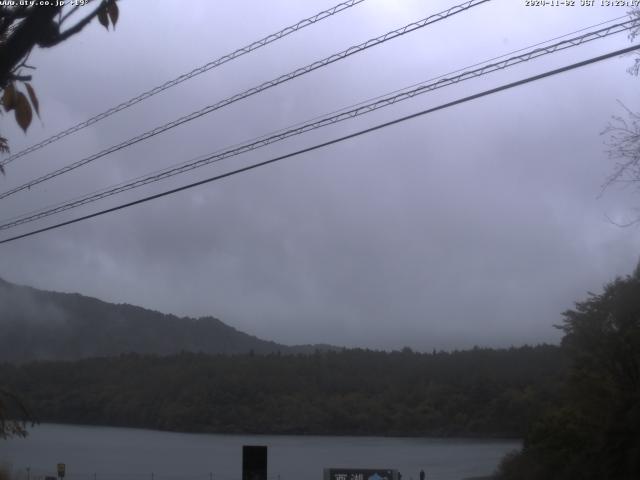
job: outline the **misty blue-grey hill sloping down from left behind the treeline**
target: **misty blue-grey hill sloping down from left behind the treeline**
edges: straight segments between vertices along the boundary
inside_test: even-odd
[[[77,293],[37,290],[0,279],[0,362],[76,360],[123,353],[171,355],[313,353],[240,332],[214,317],[180,318]]]

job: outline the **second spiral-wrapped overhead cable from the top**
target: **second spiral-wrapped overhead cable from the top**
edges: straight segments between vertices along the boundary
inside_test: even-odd
[[[438,22],[440,20],[444,20],[446,18],[449,18],[453,15],[456,15],[458,13],[464,12],[466,10],[469,10],[470,8],[476,7],[478,5],[481,5],[483,3],[489,2],[491,0],[468,0],[467,2],[464,2],[462,4],[453,6],[448,8],[447,10],[440,12],[440,13],[436,13],[434,15],[431,15],[427,18],[424,18],[422,20],[418,20],[417,22],[413,22],[410,23],[408,25],[405,25],[404,27],[398,28],[396,30],[392,30],[390,32],[385,33],[384,35],[380,35],[379,37],[373,38],[371,40],[368,40],[366,42],[363,42],[359,45],[355,45],[352,47],[347,48],[346,50],[343,50],[339,53],[335,53],[333,55],[330,55],[322,60],[318,60],[316,62],[313,62],[309,65],[306,65],[304,67],[298,68],[288,74],[285,75],[281,75],[280,77],[277,77],[273,80],[270,80],[268,82],[264,82],[260,85],[258,85],[257,87],[253,87],[250,88],[248,90],[245,90],[242,93],[238,93],[236,95],[233,95],[229,98],[226,98],[225,100],[221,100],[218,103],[215,103],[213,105],[209,105],[207,107],[204,107],[198,111],[192,112],[189,115],[185,115],[183,117],[178,118],[177,120],[174,120],[172,122],[166,123],[164,125],[161,125],[159,127],[156,127],[152,130],[149,130],[143,134],[140,134],[136,137],[133,137],[125,142],[122,142],[118,145],[114,145],[112,147],[109,147],[105,150],[102,150],[101,152],[98,152],[94,155],[91,155],[89,157],[85,157],[82,160],[78,160],[74,163],[71,163],[65,167],[62,167],[58,170],[55,170],[53,172],[50,172],[46,175],[43,175],[41,177],[38,177],[34,180],[31,180],[23,185],[20,185],[18,187],[15,187],[11,190],[8,190],[6,192],[3,192],[0,194],[0,199],[6,198],[10,195],[13,195],[17,192],[20,192],[22,190],[26,190],[26,189],[30,189],[31,187],[33,187],[34,185],[38,185],[39,183],[42,183],[46,180],[50,180],[52,178],[55,178],[59,175],[62,175],[64,173],[70,172],[71,170],[75,170],[76,168],[79,168],[83,165],[86,165],[88,163],[93,162],[94,160],[97,160],[99,158],[102,158],[106,155],[109,155],[110,153],[116,152],[118,150],[122,150],[123,148],[129,147],[131,145],[134,145],[138,142],[141,142],[143,140],[146,140],[148,138],[151,138],[155,135],[158,135],[160,133],[166,132],[167,130],[170,130],[174,127],[177,127],[179,125],[182,125],[183,123],[186,122],[190,122],[192,120],[195,120],[196,118],[202,117],[203,115],[207,115],[208,113],[211,113],[215,110],[218,110],[220,108],[226,107],[227,105],[230,105],[234,102],[237,102],[239,100],[242,100],[244,98],[247,98],[251,95],[255,95],[257,93],[260,93],[264,90],[267,90],[271,87],[275,87],[276,85],[279,85],[281,83],[287,82],[289,80],[292,80],[296,77],[299,77],[301,75],[305,75],[309,72],[312,72],[314,70],[317,70],[319,68],[325,67],[329,64],[332,64],[334,62],[337,62],[338,60],[343,60],[351,55],[354,55],[356,53],[360,53],[368,48],[380,45],[382,43],[385,43],[389,40],[392,40],[394,38],[397,38],[399,36],[405,35],[407,33],[413,32],[415,30],[418,30],[420,28],[423,28],[427,25],[430,25],[432,23]]]

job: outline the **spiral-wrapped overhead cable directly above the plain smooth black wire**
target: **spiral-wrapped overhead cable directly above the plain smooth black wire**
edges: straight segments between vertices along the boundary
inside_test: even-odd
[[[506,58],[503,61],[486,64],[480,68],[464,71],[460,75],[456,76],[440,76],[437,77],[437,81],[431,83],[423,83],[419,84],[418,87],[412,88],[411,90],[404,90],[401,93],[393,92],[390,95],[384,97],[377,97],[375,101],[366,103],[366,104],[358,104],[356,108],[352,108],[351,110],[341,111],[336,115],[326,115],[324,117],[320,117],[319,120],[311,120],[306,123],[298,124],[293,127],[289,127],[288,129],[283,129],[278,132],[275,132],[269,136],[262,136],[254,140],[250,140],[245,143],[241,143],[239,145],[233,146],[231,148],[221,149],[217,152],[203,155],[198,157],[197,159],[184,162],[178,166],[173,166],[166,168],[164,170],[160,170],[158,172],[148,174],[146,176],[141,176],[136,179],[130,180],[128,182],[123,182],[113,187],[109,187],[98,192],[94,192],[83,197],[79,197],[62,204],[58,204],[52,207],[45,207],[44,209],[40,209],[36,212],[30,212],[27,214],[20,215],[18,217],[14,217],[12,219],[5,220],[5,223],[0,224],[0,230],[7,230],[9,228],[16,227],[18,225],[23,225],[25,223],[30,223],[36,220],[41,220],[43,218],[49,217],[51,215],[61,213],[73,208],[77,208],[82,205],[86,205],[88,203],[93,203],[95,201],[101,200],[106,197],[110,197],[119,193],[123,193],[128,190],[132,190],[134,188],[138,188],[144,185],[148,185],[150,183],[155,183],[160,180],[164,180],[166,178],[179,175],[181,173],[185,173],[190,170],[194,170],[196,168],[203,167],[205,165],[216,163],[226,158],[230,158],[233,156],[237,156],[243,153],[247,153],[249,151],[256,150],[258,148],[265,147],[267,145],[285,140],[287,138],[301,135],[303,133],[307,133],[312,130],[316,130],[318,128],[325,127],[327,125],[332,125],[338,122],[342,122],[344,120],[348,120],[351,118],[355,118],[375,110],[388,107],[395,103],[411,99],[417,95],[421,95],[439,88],[443,88],[449,85],[457,84],[459,82],[463,82],[465,80],[470,80],[472,78],[477,78],[483,75],[487,75],[489,73],[493,73],[498,70],[503,70],[508,67],[512,67],[514,65],[518,65],[524,62],[528,62],[530,60],[539,58],[543,55],[549,55],[561,50],[565,50],[567,48],[576,47],[582,45],[584,43],[602,39],[610,35],[614,35],[631,28],[636,27],[640,22],[637,20],[628,20],[626,22],[622,22],[619,24],[611,25],[606,28],[602,28],[600,30],[596,30],[593,32],[588,32],[586,34],[580,35],[578,37],[573,37],[561,42],[557,42],[552,45],[548,45],[543,48],[537,48],[530,50],[522,55],[513,56]]]

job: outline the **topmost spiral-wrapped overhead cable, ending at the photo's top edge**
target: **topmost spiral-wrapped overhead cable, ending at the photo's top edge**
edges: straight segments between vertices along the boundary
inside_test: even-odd
[[[31,152],[35,152],[36,150],[40,150],[41,148],[57,142],[58,140],[60,140],[61,138],[64,138],[68,135],[71,135],[72,133],[75,133],[79,130],[82,130],[90,125],[93,125],[94,123],[97,123],[101,120],[104,120],[107,117],[110,117],[111,115],[120,112],[121,110],[124,110],[126,108],[129,108],[133,105],[135,105],[136,103],[142,102],[143,100],[146,100],[147,98],[150,98],[160,92],[163,92],[164,90],[167,90],[168,88],[174,87],[182,82],[185,82],[195,76],[198,76],[202,73],[208,72],[209,70],[219,67],[227,62],[230,62],[231,60],[234,60],[238,57],[241,57],[249,52],[252,52],[254,50],[257,50],[261,47],[264,47],[266,45],[269,45],[270,43],[273,43],[277,40],[280,40],[281,38],[286,37],[287,35],[290,35],[294,32],[297,32],[298,30],[302,30],[305,27],[308,27],[310,25],[313,25],[315,23],[318,23],[326,18],[329,18],[337,13],[340,13],[348,8],[351,8],[359,3],[364,2],[364,0],[349,0],[343,3],[339,3],[338,5],[328,9],[328,10],[323,10],[322,12],[316,13],[315,15],[309,17],[309,18],[305,18],[304,20],[300,20],[298,23],[294,24],[294,25],[290,25],[288,27],[283,28],[282,30],[276,32],[276,33],[272,33],[270,35],[267,35],[264,38],[261,38],[260,40],[256,40],[255,42],[246,45],[242,48],[237,49],[234,52],[228,53],[226,55],[223,55],[220,58],[217,58],[215,60],[212,60],[211,62],[202,65],[200,67],[194,68],[193,70],[191,70],[188,73],[184,73],[182,75],[180,75],[179,77],[174,78],[173,80],[169,80],[165,83],[163,83],[162,85],[158,85],[155,88],[152,88],[151,90],[147,90],[146,92],[141,93],[140,95],[137,95],[133,98],[130,98],[129,100],[120,103],[119,105],[116,105],[115,107],[112,107],[108,110],[105,110],[102,113],[99,113],[91,118],[89,118],[88,120],[85,120],[84,122],[80,122],[76,125],[73,125],[72,127],[67,128],[66,130],[62,130],[61,132],[56,133],[55,135],[52,135],[49,138],[46,138],[44,140],[42,140],[39,143],[36,143],[34,145],[31,145],[30,147],[25,148],[24,150],[21,150],[17,153],[14,153],[13,155],[10,155],[9,157],[7,157],[6,159],[2,160],[0,162],[0,165],[4,166],[8,163],[13,162],[14,160],[23,157]]]

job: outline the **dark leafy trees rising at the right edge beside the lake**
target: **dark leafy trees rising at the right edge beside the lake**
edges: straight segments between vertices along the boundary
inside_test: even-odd
[[[640,478],[640,265],[564,313],[559,402],[532,422],[504,480]]]

